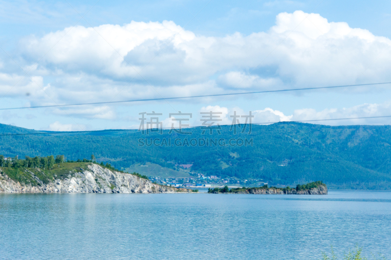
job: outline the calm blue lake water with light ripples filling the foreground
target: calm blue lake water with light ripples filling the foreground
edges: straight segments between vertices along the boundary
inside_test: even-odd
[[[1,194],[1,259],[391,259],[391,193]]]

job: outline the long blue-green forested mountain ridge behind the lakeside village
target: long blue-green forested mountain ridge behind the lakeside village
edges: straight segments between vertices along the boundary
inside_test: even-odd
[[[190,131],[190,130],[189,130]],[[303,183],[323,180],[327,184],[388,183],[391,181],[391,127],[339,126],[284,122],[268,126],[253,125],[252,132],[234,134],[222,126],[210,134],[191,129],[189,135],[149,134],[137,130],[39,133],[35,130],[0,125],[0,154],[19,158],[64,154],[68,160],[90,158],[109,162],[116,168],[134,163],[152,162],[173,168],[193,164],[191,170],[208,175],[263,178],[279,183]],[[7,135],[7,134],[21,135]],[[162,140],[181,138],[180,146],[140,146],[139,138]],[[194,139],[195,138],[195,139]],[[199,138],[253,139],[252,146],[192,146]],[[189,145],[186,144],[187,139]],[[177,142],[178,143],[178,142]],[[220,142],[220,144],[222,144]],[[239,142],[240,144],[240,142]]]

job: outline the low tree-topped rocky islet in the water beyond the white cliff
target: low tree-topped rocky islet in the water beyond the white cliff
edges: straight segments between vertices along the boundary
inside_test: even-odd
[[[327,187],[323,181],[314,181],[304,185],[298,184],[296,188],[277,188],[268,187],[264,185],[262,187],[254,188],[233,188],[229,189],[228,186],[224,188],[208,189],[208,193],[212,194],[297,194],[297,195],[326,195]]]

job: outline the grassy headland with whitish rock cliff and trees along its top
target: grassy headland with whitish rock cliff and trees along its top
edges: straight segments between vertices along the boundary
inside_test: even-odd
[[[49,170],[39,167],[0,167],[0,193],[192,192],[155,184],[138,174],[121,173],[96,163],[65,162],[52,167]]]

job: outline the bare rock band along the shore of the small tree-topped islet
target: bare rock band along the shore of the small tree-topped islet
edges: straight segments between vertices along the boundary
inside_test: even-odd
[[[249,188],[236,194],[297,194],[297,195],[326,195],[327,187],[320,185],[318,188],[296,191],[295,189],[274,189],[274,188]]]

